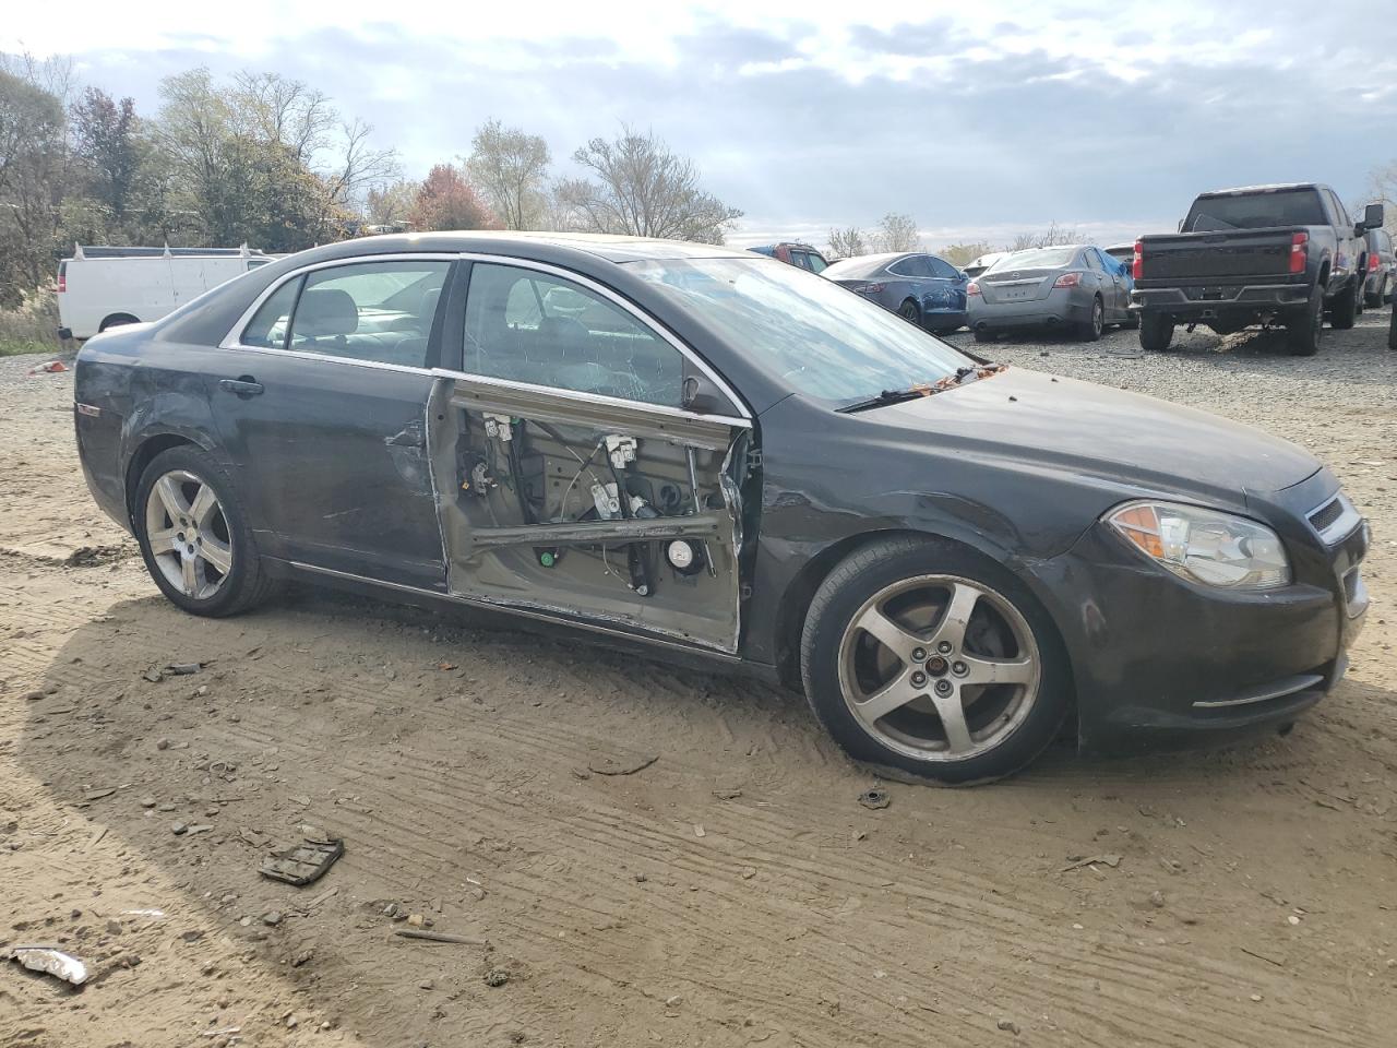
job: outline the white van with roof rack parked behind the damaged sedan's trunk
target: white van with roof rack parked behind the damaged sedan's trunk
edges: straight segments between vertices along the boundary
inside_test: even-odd
[[[59,337],[159,320],[271,256],[242,247],[84,247],[59,263]]]

